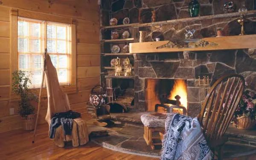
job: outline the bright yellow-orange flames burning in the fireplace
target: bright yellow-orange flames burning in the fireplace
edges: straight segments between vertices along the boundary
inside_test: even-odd
[[[186,81],[182,79],[176,79],[173,85],[169,99],[175,99],[175,96],[179,95],[181,106],[187,108],[187,92],[186,92]]]

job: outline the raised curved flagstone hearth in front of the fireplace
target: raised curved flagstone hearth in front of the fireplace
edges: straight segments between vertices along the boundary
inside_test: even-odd
[[[111,113],[111,117],[115,123],[106,127],[90,125],[89,121],[89,132],[107,130],[109,133],[107,137],[92,138],[91,140],[96,144],[114,151],[148,157],[159,157],[161,145],[157,146],[155,150],[152,150],[150,146],[146,145],[143,138],[144,129],[140,121],[140,116],[146,113],[149,112]],[[255,130],[244,131],[230,125],[225,134],[229,137],[229,142],[224,147],[225,158],[256,154]]]

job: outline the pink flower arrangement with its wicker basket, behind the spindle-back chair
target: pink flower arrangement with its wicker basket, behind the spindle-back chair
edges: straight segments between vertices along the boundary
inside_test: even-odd
[[[248,86],[247,83],[245,83]],[[233,116],[233,125],[239,129],[252,129],[256,122],[256,94],[245,89]]]

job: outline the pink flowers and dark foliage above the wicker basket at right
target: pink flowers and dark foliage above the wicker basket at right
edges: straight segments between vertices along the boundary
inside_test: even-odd
[[[245,82],[245,85],[248,86],[247,82]],[[256,119],[256,95],[248,89],[244,90],[243,96],[234,113],[233,120],[240,116],[248,116],[251,119]]]

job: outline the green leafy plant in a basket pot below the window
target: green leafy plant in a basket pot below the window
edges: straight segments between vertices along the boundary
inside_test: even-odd
[[[26,131],[34,129],[35,106],[31,102],[38,102],[38,97],[28,89],[28,84],[31,84],[30,76],[31,73],[22,70],[12,73],[12,91],[20,96],[18,113],[22,117],[23,129]]]

